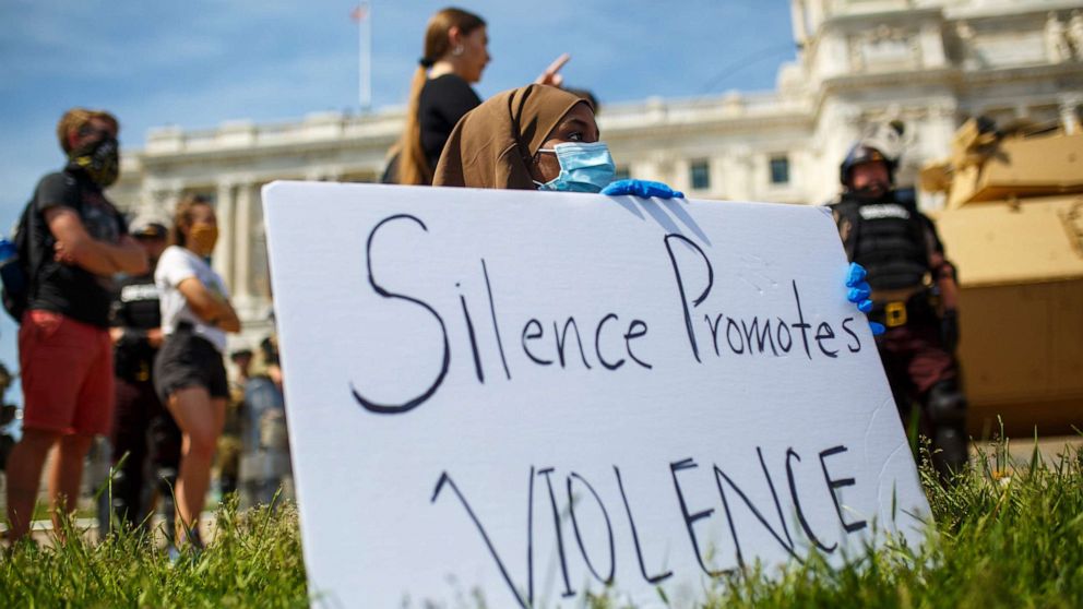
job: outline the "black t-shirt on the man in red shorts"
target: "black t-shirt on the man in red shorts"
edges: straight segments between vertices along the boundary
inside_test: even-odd
[[[107,243],[116,243],[128,234],[123,216],[106,200],[102,189],[79,169],[69,168],[41,178],[31,203],[34,205],[31,260],[39,262],[37,273],[31,278],[27,308],[55,311],[83,323],[108,327],[112,278],[57,262],[53,259],[57,240],[45,222],[45,211],[53,206],[71,207],[79,214],[86,232]]]

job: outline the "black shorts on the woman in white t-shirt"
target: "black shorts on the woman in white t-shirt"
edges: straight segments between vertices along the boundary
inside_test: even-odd
[[[211,397],[229,397],[222,354],[206,338],[178,327],[154,358],[154,390],[167,404],[169,394],[186,387],[204,387]]]

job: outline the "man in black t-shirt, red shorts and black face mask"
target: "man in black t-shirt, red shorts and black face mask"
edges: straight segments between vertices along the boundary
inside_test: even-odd
[[[28,532],[49,450],[57,446],[49,497],[59,532],[59,516],[76,506],[91,442],[111,427],[112,276],[147,268],[103,193],[119,176],[118,128],[102,110],[66,112],[57,135],[68,163],[41,178],[29,203],[29,291],[19,330],[23,437],[7,470],[12,542]]]

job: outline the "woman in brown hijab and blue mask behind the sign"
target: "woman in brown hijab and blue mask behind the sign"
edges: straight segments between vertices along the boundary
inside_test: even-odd
[[[591,103],[532,84],[493,96],[459,121],[432,186],[683,196],[658,182],[614,182],[615,172]]]

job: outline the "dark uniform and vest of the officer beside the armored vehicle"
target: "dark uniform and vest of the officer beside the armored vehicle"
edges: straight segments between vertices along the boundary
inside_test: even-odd
[[[945,344],[929,277],[953,270],[932,222],[917,210],[913,190],[888,192],[877,201],[843,195],[832,205],[846,255],[869,272],[871,321],[886,331],[877,347],[903,425],[912,404],[918,425],[932,439],[933,464],[947,474],[966,463],[966,399],[959,387],[953,345]],[[878,299],[885,290],[912,292],[897,301]]]

